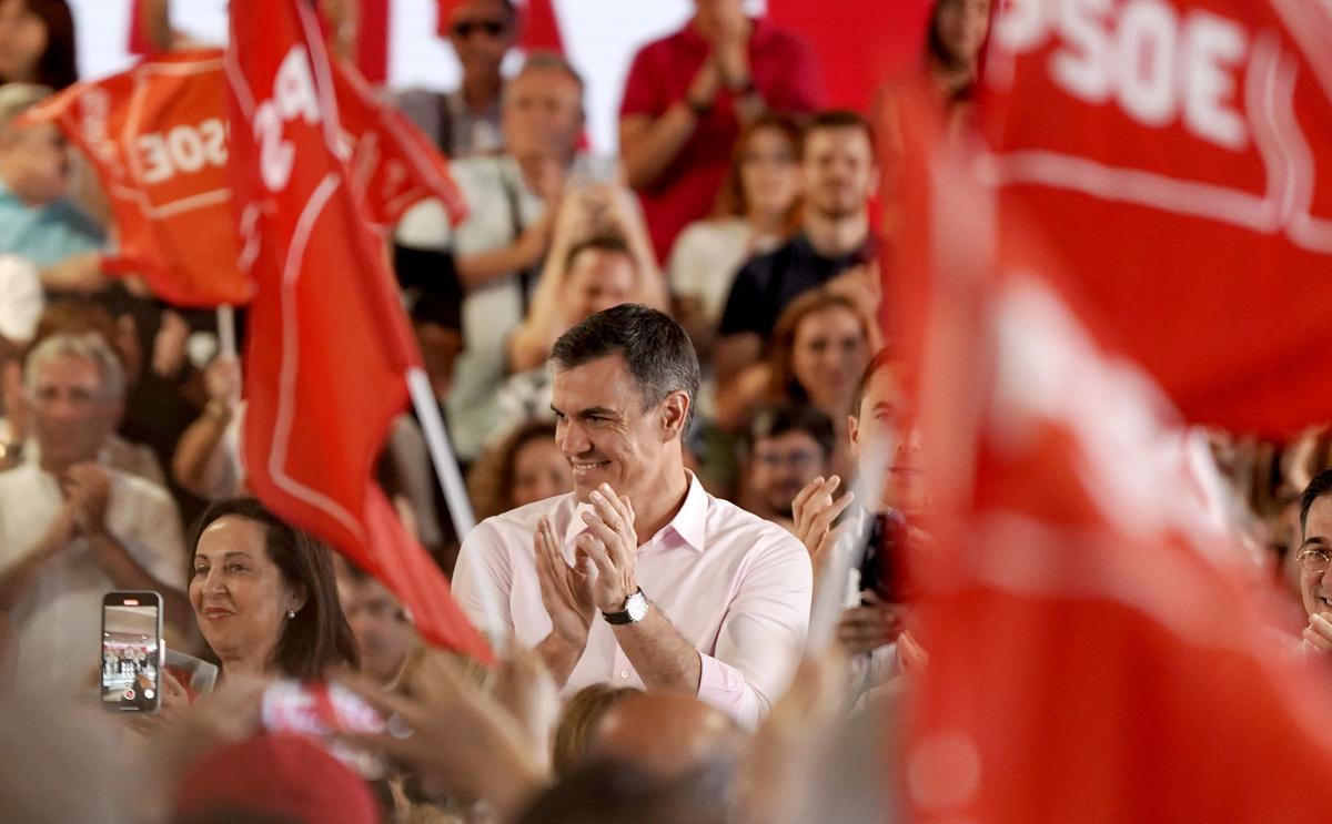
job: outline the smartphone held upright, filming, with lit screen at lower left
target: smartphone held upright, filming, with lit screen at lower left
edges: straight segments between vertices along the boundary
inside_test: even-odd
[[[163,599],[108,592],[101,599],[101,706],[156,712],[161,702]]]

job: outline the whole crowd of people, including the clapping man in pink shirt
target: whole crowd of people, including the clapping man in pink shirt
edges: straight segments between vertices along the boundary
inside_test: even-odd
[[[330,31],[349,5],[322,4]],[[145,7],[169,47],[165,3]],[[76,81],[69,9],[0,0],[0,688],[77,707],[125,675],[95,652],[111,590],[161,594],[166,647],[221,671],[197,695],[164,666],[161,710],[115,724],[0,702],[4,735],[91,753],[31,765],[87,781],[83,807],[20,792],[7,761],[21,820],[883,819],[879,731],[928,666],[898,563],[930,543],[927,463],[878,322],[894,89],[874,113],[825,108],[806,40],[742,7],[697,0],[639,49],[618,157],[583,149],[565,57],[502,73],[510,0],[453,4],[457,89],[394,96],[469,204],[450,225],[424,201],[385,244],[480,523],[453,528],[410,415],[376,475],[494,642],[488,671],[246,495],[217,317],[101,272],[116,228],[96,181],[55,125],[17,120]],[[930,20],[920,73],[951,136],[972,128],[988,20],[988,0]],[[1269,534],[1303,643],[1332,654],[1317,438],[1267,454],[1265,478],[1252,445],[1215,441],[1249,499],[1283,490],[1259,514],[1289,522]],[[834,643],[806,650],[843,536],[862,560],[835,582]],[[390,723],[336,747],[261,735],[273,679],[345,683]],[[117,789],[128,736],[140,769]],[[384,768],[361,777],[340,748]]]

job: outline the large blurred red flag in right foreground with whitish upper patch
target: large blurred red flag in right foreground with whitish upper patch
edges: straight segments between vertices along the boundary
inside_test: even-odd
[[[904,280],[938,543],[902,744],[911,821],[1319,821],[1327,674],[1272,630],[1205,445],[1108,354],[1071,270],[934,162],[907,106]],[[974,161],[974,158],[971,158]],[[1019,256],[995,265],[994,233]],[[918,242],[924,241],[928,242]],[[1014,265],[1011,261],[1020,261]],[[920,558],[915,558],[920,560]]]

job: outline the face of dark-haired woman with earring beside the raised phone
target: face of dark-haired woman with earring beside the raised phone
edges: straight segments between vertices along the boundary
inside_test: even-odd
[[[268,556],[264,524],[224,515],[198,536],[189,580],[189,603],[204,640],[222,666],[262,672],[282,639],[286,611],[305,606]]]

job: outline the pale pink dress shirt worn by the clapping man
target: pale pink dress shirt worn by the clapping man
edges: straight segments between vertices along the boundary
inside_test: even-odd
[[[542,515],[563,535],[565,560],[586,528],[573,494],[482,520],[462,542],[453,596],[484,631],[535,647],[550,632],[531,535]],[[786,690],[810,620],[810,556],[790,532],[709,495],[690,475],[679,513],[638,547],[638,586],[699,652],[698,698],[753,727]],[[486,604],[501,615],[488,616]],[[502,623],[501,623],[502,622]],[[498,624],[498,626],[497,626]],[[642,687],[601,616],[565,684]]]

